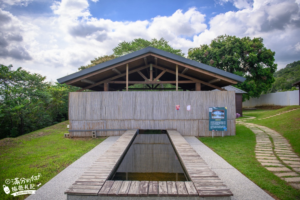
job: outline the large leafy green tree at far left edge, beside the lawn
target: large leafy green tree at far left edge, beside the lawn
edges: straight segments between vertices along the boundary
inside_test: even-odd
[[[19,136],[50,125],[46,77],[0,64],[0,137]]]

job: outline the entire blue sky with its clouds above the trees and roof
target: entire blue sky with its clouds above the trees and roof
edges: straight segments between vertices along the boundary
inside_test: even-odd
[[[0,63],[47,80],[122,41],[164,37],[187,55],[221,34],[262,37],[278,69],[300,60],[300,0],[2,0]]]

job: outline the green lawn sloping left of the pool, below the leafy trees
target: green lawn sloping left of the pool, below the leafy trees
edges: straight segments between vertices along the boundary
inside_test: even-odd
[[[68,121],[65,121],[17,138],[0,140],[0,181],[1,185],[10,188],[10,194],[13,185],[12,182],[7,185],[6,179],[29,179],[32,175],[37,176],[40,173],[39,179],[33,183],[41,183],[43,186],[105,139],[64,138],[63,133],[68,133],[67,124]],[[0,199],[25,199],[27,196],[13,197],[5,194],[4,190],[0,193]]]

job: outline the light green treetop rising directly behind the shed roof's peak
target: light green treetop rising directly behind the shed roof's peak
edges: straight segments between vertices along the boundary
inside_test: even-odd
[[[126,55],[128,53],[135,52],[140,49],[144,49],[148,46],[152,46],[156,49],[161,49],[176,55],[184,56],[184,53],[182,53],[182,50],[180,49],[174,49],[169,44],[169,42],[166,41],[164,38],[161,38],[160,40],[157,40],[156,38],[151,39],[150,41],[138,38],[134,39],[131,42],[121,42],[113,49],[113,54],[117,57]]]

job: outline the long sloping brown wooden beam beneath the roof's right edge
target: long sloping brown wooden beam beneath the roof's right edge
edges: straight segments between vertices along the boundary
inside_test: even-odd
[[[215,74],[215,73],[212,73],[212,72],[209,72],[209,71],[200,69],[199,67],[194,67],[194,66],[192,66],[192,65],[184,64],[184,63],[179,62],[179,61],[176,61],[176,60],[171,60],[170,58],[166,58],[166,57],[164,57],[164,56],[161,56],[161,55],[158,55],[158,54],[155,54],[155,53],[150,53],[150,55],[155,56],[155,57],[157,57],[157,58],[161,58],[161,59],[166,60],[166,61],[170,61],[170,62],[172,62],[172,63],[174,63],[174,64],[178,64],[178,65],[180,65],[180,66],[182,66],[182,67],[187,67],[187,68],[189,68],[189,69],[191,69],[191,70],[195,70],[195,71],[198,71],[198,72],[201,72],[201,73],[205,73],[205,74],[207,74],[207,75],[209,75],[209,76],[213,76],[213,77],[215,77],[215,78],[218,78],[218,79],[221,79],[221,80],[230,82],[230,83],[232,83],[232,84],[237,84],[237,83],[238,83],[238,82],[236,82],[236,81],[234,81],[234,80],[232,80],[232,79],[225,78],[225,77],[220,76],[220,75],[218,75],[218,74]]]

